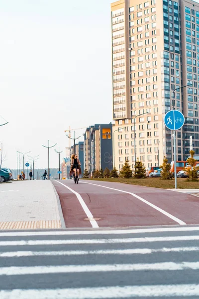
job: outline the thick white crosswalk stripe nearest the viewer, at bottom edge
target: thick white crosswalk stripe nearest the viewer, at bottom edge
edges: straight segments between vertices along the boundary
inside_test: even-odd
[[[1,290],[0,299],[111,299],[139,297],[190,297],[199,295],[199,285],[153,285],[101,288]]]

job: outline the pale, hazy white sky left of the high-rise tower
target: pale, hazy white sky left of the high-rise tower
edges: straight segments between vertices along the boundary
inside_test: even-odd
[[[112,121],[110,3],[0,1],[0,116],[9,122],[0,127],[4,167],[16,168],[16,150],[30,150],[39,155],[35,168],[47,168],[48,140],[63,157],[69,126]],[[58,154],[50,155],[50,167],[58,167]]]

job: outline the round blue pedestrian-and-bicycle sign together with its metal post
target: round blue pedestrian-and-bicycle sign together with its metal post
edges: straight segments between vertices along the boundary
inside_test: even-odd
[[[181,129],[185,123],[184,115],[178,110],[170,110],[165,114],[164,119],[165,126],[174,131],[174,177],[175,177],[175,189],[177,189],[177,171],[176,171],[176,132]]]

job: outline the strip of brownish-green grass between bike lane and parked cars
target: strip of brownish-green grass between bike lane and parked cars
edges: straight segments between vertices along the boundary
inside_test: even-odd
[[[90,178],[89,180],[107,181],[124,183],[130,185],[139,185],[145,187],[155,187],[162,189],[175,189],[175,179],[163,180],[159,177],[150,178]],[[178,189],[199,189],[199,181],[189,182],[186,178],[177,178],[177,188]]]

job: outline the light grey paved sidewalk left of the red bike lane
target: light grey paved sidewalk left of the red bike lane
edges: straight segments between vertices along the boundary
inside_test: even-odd
[[[59,197],[50,180],[0,184],[0,230],[65,228]]]

